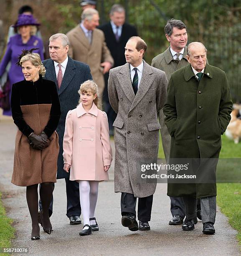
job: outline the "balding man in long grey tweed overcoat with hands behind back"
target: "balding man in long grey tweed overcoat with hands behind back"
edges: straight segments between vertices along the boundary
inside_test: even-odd
[[[114,121],[115,192],[122,192],[122,225],[131,231],[150,230],[152,199],[156,179],[142,182],[140,163],[157,161],[158,113],[166,100],[165,72],[148,65],[142,58],[145,41],[131,37],[125,46],[127,63],[109,72],[109,102],[117,113]],[[138,219],[136,201],[138,197]]]

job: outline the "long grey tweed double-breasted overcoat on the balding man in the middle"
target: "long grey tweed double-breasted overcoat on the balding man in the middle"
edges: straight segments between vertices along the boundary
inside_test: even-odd
[[[165,72],[145,61],[142,79],[134,95],[130,65],[109,72],[109,102],[117,113],[115,127],[115,192],[126,192],[134,197],[153,195],[156,180],[141,179],[140,163],[157,161],[159,129],[158,112],[166,100]]]

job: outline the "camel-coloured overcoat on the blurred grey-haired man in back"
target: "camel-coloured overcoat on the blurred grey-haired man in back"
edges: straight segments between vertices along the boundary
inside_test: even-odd
[[[68,55],[72,59],[89,65],[91,75],[98,85],[98,92],[101,96],[104,90],[104,74],[100,64],[103,61],[109,61],[112,65],[114,64],[114,60],[105,43],[103,31],[98,28],[94,29],[91,44],[89,44],[80,25],[69,31],[66,36],[70,41]]]

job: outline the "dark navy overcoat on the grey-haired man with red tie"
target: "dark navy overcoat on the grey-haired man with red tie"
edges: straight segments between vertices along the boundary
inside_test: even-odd
[[[61,117],[56,129],[59,143],[57,179],[63,179],[69,177],[69,173],[63,170],[63,134],[66,115],[69,110],[76,108],[78,105],[78,90],[80,85],[86,80],[92,79],[92,77],[88,65],[80,61],[75,61],[68,56],[68,64],[63,75],[63,81],[61,83],[61,87],[58,89],[53,61],[51,59],[47,59],[43,61],[43,65],[46,68],[45,78],[52,80],[56,84],[61,105]]]

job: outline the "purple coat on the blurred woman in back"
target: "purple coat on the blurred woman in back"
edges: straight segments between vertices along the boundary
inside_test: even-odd
[[[23,49],[26,50],[32,48],[39,48],[38,50],[33,52],[38,53],[40,55],[41,60],[43,60],[43,41],[40,38],[38,38],[37,36],[31,36],[28,42],[26,44],[23,44],[22,38],[19,34],[10,37],[7,50],[0,63],[0,77],[5,72],[6,67],[10,61],[11,64],[10,69],[8,71],[8,79],[10,81],[11,87],[12,84],[24,80],[21,67],[18,67],[16,65],[16,62],[18,61],[18,55],[22,53]],[[11,91],[12,88],[10,90],[9,99],[11,98]],[[3,114],[12,115],[12,112],[11,110],[3,111]]]

